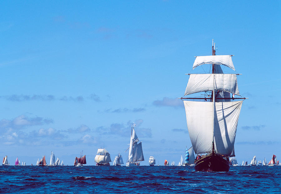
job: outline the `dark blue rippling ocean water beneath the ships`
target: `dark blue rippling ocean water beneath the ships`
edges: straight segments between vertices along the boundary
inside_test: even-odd
[[[281,166],[0,166],[0,193],[281,193]]]

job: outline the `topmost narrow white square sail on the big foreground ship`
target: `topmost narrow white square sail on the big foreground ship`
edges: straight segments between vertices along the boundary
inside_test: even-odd
[[[225,65],[235,71],[232,55],[196,56],[192,69],[203,64]]]

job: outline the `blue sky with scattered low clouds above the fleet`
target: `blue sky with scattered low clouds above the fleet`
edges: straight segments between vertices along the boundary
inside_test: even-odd
[[[127,153],[131,123],[145,162],[190,147],[181,100],[194,56],[235,55],[242,105],[239,163],[281,157],[280,2],[0,3],[0,155]],[[227,68],[223,69],[228,71]]]

